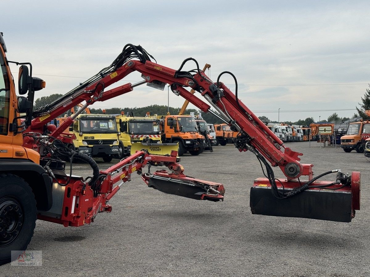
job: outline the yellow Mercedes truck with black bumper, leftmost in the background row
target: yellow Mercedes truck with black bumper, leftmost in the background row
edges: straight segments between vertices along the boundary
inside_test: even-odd
[[[71,149],[91,157],[101,157],[109,163],[119,154],[118,129],[114,116],[107,114],[79,114],[69,130],[75,134]]]

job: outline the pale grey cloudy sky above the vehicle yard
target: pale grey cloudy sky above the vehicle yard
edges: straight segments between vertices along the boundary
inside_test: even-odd
[[[233,72],[239,98],[271,120],[279,108],[280,121],[318,121],[334,112],[291,110],[351,116],[354,110],[342,109],[355,109],[369,87],[368,1],[51,2],[2,1],[8,59],[31,62],[33,75],[47,82],[36,98],[68,92],[111,64],[127,43],[140,44],[170,68],[188,57],[201,67],[211,64],[213,81],[222,71]],[[184,69],[194,67],[188,62]],[[125,80],[141,77],[132,73]],[[221,81],[234,90],[230,76]],[[170,91],[169,102],[179,107],[184,100]],[[152,104],[167,104],[167,88],[139,86],[91,107]]]

